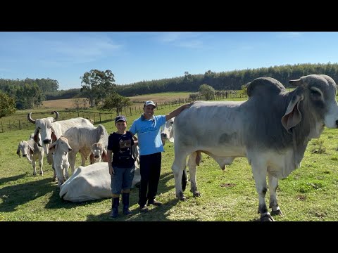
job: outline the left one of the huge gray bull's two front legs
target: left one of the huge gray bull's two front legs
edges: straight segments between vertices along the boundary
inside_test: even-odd
[[[268,190],[266,186],[267,169],[263,164],[256,164],[256,162],[251,162],[251,167],[258,193],[258,214],[261,214],[261,221],[275,221],[273,216],[268,212],[268,208],[265,204],[265,194]]]

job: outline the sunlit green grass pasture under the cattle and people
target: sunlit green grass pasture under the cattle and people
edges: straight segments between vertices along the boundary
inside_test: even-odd
[[[160,108],[155,113],[165,115],[177,107]],[[139,114],[127,116],[128,126],[137,117]],[[102,123],[108,132],[115,130],[110,119]],[[0,133],[0,221],[111,221],[108,219],[111,199],[82,203],[61,200],[57,183],[51,181],[53,171],[46,158],[44,176],[32,176],[31,164],[15,154],[19,141],[27,140],[32,129]],[[277,200],[284,215],[275,216],[276,221],[338,221],[337,134],[338,129],[325,129],[319,139],[308,144],[301,168],[280,180]],[[187,201],[180,202],[175,197],[171,171],[173,151],[173,143],[165,143],[157,197],[164,205],[151,206],[148,213],[140,213],[138,190],[134,189],[130,195],[134,214],[129,217],[121,214],[116,221],[256,221],[259,218],[258,195],[246,158],[236,158],[222,171],[211,157],[202,154],[196,176],[201,197],[192,197],[188,184]],[[77,155],[79,164],[80,155]],[[267,205],[268,199],[269,191],[265,197]]]

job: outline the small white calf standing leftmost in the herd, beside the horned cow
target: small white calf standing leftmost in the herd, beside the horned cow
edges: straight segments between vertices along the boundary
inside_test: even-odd
[[[39,168],[40,168],[40,175],[44,174],[42,169],[44,165],[44,148],[39,147],[37,143],[33,140],[32,134],[28,141],[20,141],[18,145],[18,150],[16,150],[16,154],[20,157],[20,151],[23,153],[23,157],[27,157],[27,160],[32,164],[33,167],[33,175],[37,175],[36,169],[36,161],[39,160]],[[39,136],[39,138],[41,138]],[[40,143],[41,145],[41,143]]]

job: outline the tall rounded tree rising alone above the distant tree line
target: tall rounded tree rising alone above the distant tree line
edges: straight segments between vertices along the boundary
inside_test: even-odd
[[[80,79],[82,80],[81,93],[83,92],[89,99],[90,107],[98,105],[102,99],[106,98],[106,94],[116,88],[114,74],[111,70],[90,70],[85,72]]]

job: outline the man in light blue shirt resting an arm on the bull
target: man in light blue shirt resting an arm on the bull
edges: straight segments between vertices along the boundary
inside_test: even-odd
[[[135,119],[130,127],[132,134],[137,134],[139,141],[139,170],[141,174],[141,185],[139,187],[139,208],[140,212],[148,212],[148,205],[162,205],[155,200],[158,181],[161,173],[161,158],[164,151],[161,141],[161,126],[165,122],[189,108],[192,104],[185,104],[173,110],[168,115],[154,116],[156,105],[149,100],[144,103],[144,113]],[[147,193],[148,191],[148,193]]]

